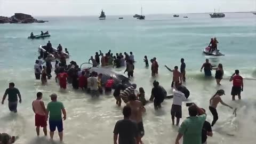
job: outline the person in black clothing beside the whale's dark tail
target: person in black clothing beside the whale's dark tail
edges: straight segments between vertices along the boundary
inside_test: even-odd
[[[151,97],[150,97],[150,101],[154,100],[154,108],[155,110],[157,110],[158,108],[161,108],[161,103],[164,101],[164,97],[165,94],[161,88],[161,86],[159,86],[159,82],[154,81],[153,82],[153,89],[151,90]]]

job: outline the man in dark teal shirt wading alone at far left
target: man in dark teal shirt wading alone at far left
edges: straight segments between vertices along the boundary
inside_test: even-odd
[[[4,105],[4,100],[8,95],[8,101],[9,101],[9,109],[10,111],[13,111],[14,113],[17,113],[17,105],[18,105],[18,97],[20,99],[20,103],[21,103],[21,95],[20,95],[20,91],[14,87],[15,84],[14,83],[9,83],[9,88],[5,90],[4,93],[4,97],[2,100],[2,105]]]

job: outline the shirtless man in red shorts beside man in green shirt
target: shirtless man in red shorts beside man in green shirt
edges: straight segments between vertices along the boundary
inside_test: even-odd
[[[43,127],[44,135],[47,136],[47,122],[46,122],[46,116],[45,116],[45,106],[44,102],[42,101],[43,93],[38,92],[36,94],[37,99],[33,101],[33,111],[36,114],[35,115],[35,123],[36,123],[36,133],[37,136],[39,136],[40,133],[40,126]]]

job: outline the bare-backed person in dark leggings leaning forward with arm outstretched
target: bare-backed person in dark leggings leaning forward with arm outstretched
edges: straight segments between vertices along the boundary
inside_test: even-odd
[[[217,113],[217,106],[219,104],[219,102],[223,105],[223,106],[227,106],[231,109],[233,109],[233,107],[227,105],[225,102],[223,102],[221,100],[221,95],[225,95],[225,91],[224,90],[218,90],[213,96],[212,98],[210,99],[210,106],[209,106],[209,109],[213,115],[213,121],[212,121],[212,124],[211,126],[213,126],[217,121],[218,121],[218,113]]]

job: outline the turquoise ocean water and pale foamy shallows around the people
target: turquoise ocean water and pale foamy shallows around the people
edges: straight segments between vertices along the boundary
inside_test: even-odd
[[[233,110],[219,105],[219,120],[213,127],[213,137],[208,143],[255,143],[253,125],[256,123],[255,86],[256,81],[256,17],[252,13],[227,13],[226,18],[211,19],[208,14],[186,14],[189,18],[173,18],[172,15],[146,15],[146,20],[133,19],[131,15],[107,16],[106,20],[97,17],[42,17],[47,23],[3,24],[0,25],[0,93],[4,94],[9,82],[14,82],[21,92],[22,103],[18,105],[18,115],[11,114],[7,100],[1,107],[0,132],[19,135],[17,143],[49,143],[48,138],[37,138],[34,127],[34,113],[31,102],[38,91],[43,92],[45,103],[49,95],[57,93],[67,110],[64,122],[65,143],[113,143],[115,122],[122,119],[122,107],[115,105],[111,95],[92,99],[71,85],[66,91],[60,91],[54,79],[42,86],[34,78],[34,62],[38,56],[37,47],[51,41],[54,47],[60,43],[67,47],[71,57],[81,64],[87,62],[96,51],[113,53],[130,52],[135,55],[135,77],[132,83],[143,87],[149,99],[154,79],[171,93],[172,74],[164,68],[180,66],[180,59],[186,62],[187,82],[190,90],[188,102],[195,102],[206,109],[207,121],[212,121],[208,110],[209,99],[218,89],[226,91],[223,101],[237,108]],[[49,30],[51,37],[45,39],[27,39],[31,31]],[[202,54],[211,37],[217,37],[218,49],[223,57],[209,57]],[[156,57],[159,75],[151,78],[150,69],[145,68],[143,57]],[[222,63],[225,78],[222,86],[215,79],[205,79],[200,68],[205,59],[214,65]],[[244,78],[244,92],[241,101],[231,101],[231,83],[228,78],[235,69],[241,71]],[[124,68],[113,69],[122,74]],[[212,72],[214,75],[214,71]],[[54,76],[54,74],[52,74]],[[184,102],[182,119],[188,116]],[[122,103],[123,104],[123,103]],[[124,104],[123,104],[124,105]],[[172,126],[170,109],[172,100],[165,100],[163,108],[155,111],[153,103],[146,106],[143,115],[145,126],[145,144],[174,143],[178,127]],[[182,121],[182,120],[181,120]],[[41,135],[43,135],[41,130]],[[232,136],[230,136],[232,135]],[[54,138],[58,143],[58,134]]]

